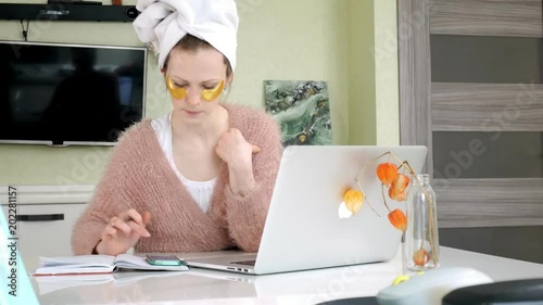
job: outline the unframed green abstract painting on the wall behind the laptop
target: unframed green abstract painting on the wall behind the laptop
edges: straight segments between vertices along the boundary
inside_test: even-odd
[[[265,80],[264,91],[266,112],[279,123],[285,147],[331,144],[326,81]]]

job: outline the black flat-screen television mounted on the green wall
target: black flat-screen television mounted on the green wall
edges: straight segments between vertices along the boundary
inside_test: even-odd
[[[147,52],[0,41],[0,143],[114,145],[144,115]]]

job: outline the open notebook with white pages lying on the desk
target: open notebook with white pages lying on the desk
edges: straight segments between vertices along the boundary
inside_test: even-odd
[[[186,271],[181,266],[155,266],[144,257],[119,254],[40,257],[34,276],[111,274],[118,269]]]

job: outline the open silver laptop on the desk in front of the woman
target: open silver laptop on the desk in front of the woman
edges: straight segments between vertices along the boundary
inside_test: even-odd
[[[376,167],[394,158],[371,162],[358,176],[366,195],[358,213],[341,218],[338,212],[345,187],[356,187],[361,168],[389,151],[421,174],[426,147],[287,147],[258,253],[186,258],[188,265],[266,275],[392,259],[402,233],[389,223]],[[391,209],[405,211],[405,202],[386,196]]]

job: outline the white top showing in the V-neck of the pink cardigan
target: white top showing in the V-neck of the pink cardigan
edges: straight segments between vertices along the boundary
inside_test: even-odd
[[[174,169],[174,173],[177,175],[177,178],[179,178],[185,188],[187,188],[190,195],[194,199],[198,205],[200,205],[202,211],[207,212],[207,209],[210,209],[211,196],[213,194],[216,178],[209,181],[193,181],[185,178],[181,173],[179,173],[177,166],[175,166],[174,154],[172,152],[172,112],[152,119],[151,126],[153,127],[162,151],[172,166],[172,169]]]

